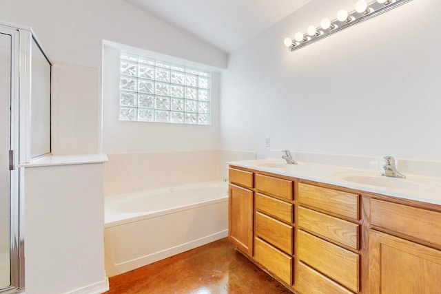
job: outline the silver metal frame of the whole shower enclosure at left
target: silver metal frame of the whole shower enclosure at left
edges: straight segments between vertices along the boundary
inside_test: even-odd
[[[50,116],[52,116],[52,62],[45,54],[32,28],[0,21],[0,32],[11,36],[10,149],[14,154],[10,160],[12,166],[10,171],[11,284],[0,289],[0,294],[10,294],[25,290],[25,180],[23,165],[31,160],[32,41],[35,42],[50,65]]]

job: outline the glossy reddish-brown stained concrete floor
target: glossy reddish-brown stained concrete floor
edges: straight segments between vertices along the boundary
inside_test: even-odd
[[[288,294],[282,284],[234,249],[227,238],[110,277],[114,293]]]

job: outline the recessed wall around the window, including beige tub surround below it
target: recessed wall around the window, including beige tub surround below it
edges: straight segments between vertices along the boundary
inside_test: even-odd
[[[120,121],[120,50],[172,60],[109,43],[103,48],[103,152],[109,156],[105,164],[105,196],[220,180],[220,167],[225,167],[225,162],[220,163],[219,150],[220,74],[212,72],[211,125]]]

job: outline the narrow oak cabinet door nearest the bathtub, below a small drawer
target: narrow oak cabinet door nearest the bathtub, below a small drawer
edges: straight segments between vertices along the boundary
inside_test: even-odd
[[[229,185],[228,237],[237,248],[253,255],[253,191]]]

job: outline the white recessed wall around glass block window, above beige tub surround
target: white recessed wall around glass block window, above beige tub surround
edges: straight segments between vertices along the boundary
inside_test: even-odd
[[[103,151],[106,154],[219,148],[219,73],[212,73],[212,125],[120,121],[120,51],[105,45],[103,54]]]

